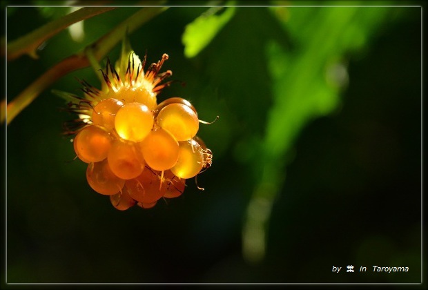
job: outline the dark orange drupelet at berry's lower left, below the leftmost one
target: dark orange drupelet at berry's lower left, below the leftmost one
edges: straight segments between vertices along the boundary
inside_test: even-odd
[[[107,160],[88,164],[86,180],[94,191],[103,195],[118,193],[125,185],[125,180],[120,179],[110,170]]]

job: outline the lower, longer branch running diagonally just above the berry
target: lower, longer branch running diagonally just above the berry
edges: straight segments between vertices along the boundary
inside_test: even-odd
[[[117,42],[120,41],[126,33],[133,32],[143,23],[146,23],[166,9],[168,9],[168,7],[142,8],[135,12],[135,14],[131,15],[128,19],[119,23],[118,26],[113,28],[113,30],[110,30],[106,35],[84,48],[84,50],[81,50],[81,52],[77,52],[75,55],[72,55],[55,66],[52,66],[52,68],[48,69],[7,105],[7,124],[10,124],[12,119],[14,119],[14,117],[23,110],[23,108],[26,108],[26,106],[28,106],[43,90],[57,81],[57,79],[63,77],[68,72],[89,66],[90,61],[86,56],[86,50],[90,49],[91,53],[93,53],[93,57],[99,61],[113,49]],[[5,117],[1,115],[1,122],[3,122],[4,119]]]

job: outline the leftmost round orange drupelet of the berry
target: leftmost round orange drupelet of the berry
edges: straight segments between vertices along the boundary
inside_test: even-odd
[[[77,133],[73,140],[75,153],[83,162],[100,162],[106,159],[108,150],[113,142],[112,137],[106,129],[88,125]]]

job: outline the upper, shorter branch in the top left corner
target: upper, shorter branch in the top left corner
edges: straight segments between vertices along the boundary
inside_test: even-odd
[[[23,54],[28,54],[30,57],[37,58],[36,50],[41,45],[41,43],[43,43],[43,41],[50,39],[50,37],[53,37],[58,32],[68,28],[68,26],[72,25],[73,23],[88,19],[97,14],[101,14],[115,8],[116,7],[80,8],[79,10],[67,14],[64,17],[46,23],[45,25],[28,33],[28,35],[24,35],[23,37],[10,42],[7,48],[7,59],[8,61],[12,61],[13,59],[17,59]]]

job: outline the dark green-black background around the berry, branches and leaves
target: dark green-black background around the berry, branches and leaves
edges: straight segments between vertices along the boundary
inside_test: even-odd
[[[13,9],[7,14],[8,39],[58,17],[35,7]],[[186,82],[164,89],[161,101],[179,95],[192,101],[200,119],[220,115],[214,124],[200,126],[199,135],[214,153],[213,166],[198,177],[205,191],[188,180],[181,197],[128,211],[117,211],[108,197],[92,191],[86,164],[70,162],[72,143],[61,135],[62,124],[74,116],[61,110],[65,102],[50,90],[79,93],[75,76],[94,86],[99,81],[91,68],[72,72],[7,127],[2,277],[8,283],[419,283],[421,8],[390,9],[389,15],[400,10],[398,16],[380,21],[364,49],[342,55],[349,84],[338,106],[309,118],[292,139],[263,260],[254,264],[245,258],[242,230],[257,181],[258,155],[249,144],[264,134],[275,106],[269,66],[255,57],[264,42],[257,47],[248,37],[257,30],[254,20],[268,12],[240,8],[200,55],[188,59],[184,27],[206,8],[170,8],[130,35],[130,42],[140,57],[147,49],[149,62],[168,53],[165,70]],[[72,42],[64,31],[50,39],[38,60],[23,56],[8,63],[8,101],[133,12],[119,8],[89,19],[84,43]],[[26,25],[19,24],[23,19]],[[284,42],[298,50],[293,37]],[[108,56],[116,59],[118,52],[119,46]],[[333,265],[342,267],[340,273],[332,273]],[[357,272],[346,273],[347,265]],[[409,272],[373,273],[373,265],[409,267]],[[367,273],[358,273],[360,266]]]

